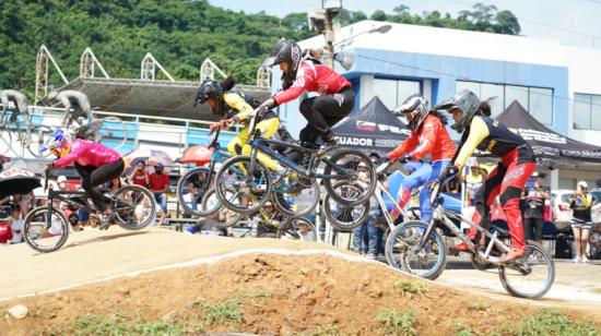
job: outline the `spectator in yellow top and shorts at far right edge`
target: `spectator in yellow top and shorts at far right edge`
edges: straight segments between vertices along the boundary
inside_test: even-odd
[[[587,263],[587,249],[590,239],[590,229],[592,227],[591,207],[597,203],[597,199],[588,193],[586,181],[578,182],[569,207],[574,209],[571,214],[571,230],[574,232],[574,248],[576,250],[575,263]]]

